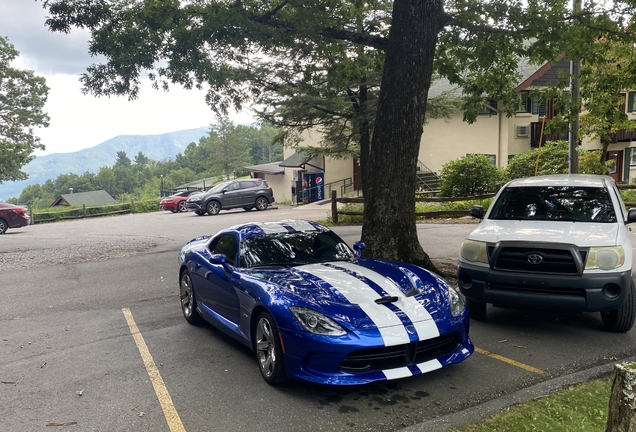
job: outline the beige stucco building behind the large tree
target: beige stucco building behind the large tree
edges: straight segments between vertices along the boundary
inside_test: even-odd
[[[549,121],[555,112],[551,101],[541,104],[531,98],[530,91],[545,86],[547,82],[554,80],[559,69],[565,68],[569,68],[569,62],[565,59],[539,69],[526,66],[525,78],[516,89],[520,103],[513,117],[507,117],[503,110],[497,109],[496,101],[490,101],[473,124],[463,121],[462,111],[455,113],[450,120],[429,121],[424,126],[419,161],[429,170],[439,173],[446,162],[479,153],[489,155],[494,164],[505,167],[511,157],[538,147],[542,136],[541,121],[543,118]],[[440,85],[444,87],[443,82]],[[443,90],[448,88],[432,88],[431,94],[435,95]],[[632,120],[636,120],[635,99],[636,92],[625,93],[625,110]],[[318,146],[320,133],[306,132],[302,138],[303,146]],[[556,139],[567,140],[568,136],[542,136],[542,142]],[[602,148],[599,140],[589,139],[584,139],[581,146],[586,150]],[[636,133],[615,134],[615,142],[608,149],[608,159],[614,161],[610,175],[617,182],[636,182],[636,151],[632,151],[632,148],[636,148]],[[329,198],[332,190],[336,190],[340,196],[361,187],[359,169],[353,159],[318,157],[306,160],[302,154],[296,154],[291,148],[284,149],[284,158],[275,173],[261,172],[259,166],[248,167],[254,169],[253,176],[267,180],[278,202],[302,202],[301,196],[294,197],[292,190],[300,181],[298,171],[303,170],[306,173],[324,173],[325,198]],[[632,166],[635,168],[634,172],[630,169]]]

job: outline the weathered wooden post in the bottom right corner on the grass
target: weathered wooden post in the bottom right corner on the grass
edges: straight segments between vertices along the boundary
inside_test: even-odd
[[[636,363],[614,366],[606,432],[636,431]]]

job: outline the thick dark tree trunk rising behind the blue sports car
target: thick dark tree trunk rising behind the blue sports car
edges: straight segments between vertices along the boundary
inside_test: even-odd
[[[431,270],[435,267],[417,239],[415,172],[444,20],[442,0],[394,1],[369,163],[362,165],[365,254]]]

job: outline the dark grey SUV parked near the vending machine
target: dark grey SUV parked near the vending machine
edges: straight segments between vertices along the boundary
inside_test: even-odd
[[[233,208],[265,210],[273,202],[274,193],[265,180],[246,179],[226,181],[203,194],[191,196],[186,206],[198,215],[215,215]]]

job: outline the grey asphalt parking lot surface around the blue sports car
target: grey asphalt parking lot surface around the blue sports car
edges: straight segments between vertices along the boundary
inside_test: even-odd
[[[636,330],[607,333],[598,314],[490,309],[471,323],[477,352],[459,365],[367,386],[271,387],[249,350],[183,319],[177,253],[236,223],[329,210],[306,207],[157,212],[0,236],[0,430],[426,430],[423,421],[636,355]],[[472,227],[426,224],[418,236],[434,260],[454,262]],[[334,231],[352,243],[360,227]]]

